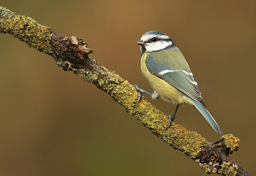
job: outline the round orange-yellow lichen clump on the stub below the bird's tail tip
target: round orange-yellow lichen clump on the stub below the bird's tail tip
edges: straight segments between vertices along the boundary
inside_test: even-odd
[[[239,138],[233,136],[232,134],[227,134],[227,135],[221,136],[221,139],[224,139],[226,147],[230,149],[230,154],[238,150],[240,145]]]

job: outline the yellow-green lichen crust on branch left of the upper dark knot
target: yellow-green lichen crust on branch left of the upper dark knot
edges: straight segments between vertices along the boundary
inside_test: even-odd
[[[38,24],[33,18],[15,15],[0,7],[0,33],[9,33],[26,42],[29,47],[53,55],[50,28]]]

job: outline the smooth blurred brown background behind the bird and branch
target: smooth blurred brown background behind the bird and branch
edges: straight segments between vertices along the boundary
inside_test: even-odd
[[[231,157],[256,173],[255,1],[0,5],[63,36],[83,38],[100,64],[148,91],[136,41],[151,30],[168,34],[189,62],[209,112],[224,133],[241,139]],[[64,72],[49,55],[0,34],[0,58],[1,175],[205,175],[108,94]],[[162,100],[152,103],[166,114],[175,108]],[[175,122],[209,141],[220,138],[194,106],[180,108]]]

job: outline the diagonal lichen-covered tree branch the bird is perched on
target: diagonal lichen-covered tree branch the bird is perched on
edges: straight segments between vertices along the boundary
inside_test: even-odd
[[[138,119],[154,135],[196,161],[206,173],[221,175],[250,175],[242,166],[228,157],[239,148],[240,140],[223,135],[209,143],[195,131],[188,131],[179,124],[166,129],[168,117],[141,98],[134,103],[138,92],[127,80],[109,71],[89,56],[93,52],[81,38],[63,37],[33,18],[16,15],[0,6],[0,33],[9,33],[40,52],[51,55],[64,71],[73,71],[86,82],[95,84],[108,93],[124,109]]]

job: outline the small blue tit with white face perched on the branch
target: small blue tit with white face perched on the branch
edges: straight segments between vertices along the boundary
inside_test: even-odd
[[[168,116],[168,127],[174,120],[179,105],[190,104],[196,106],[216,133],[223,134],[206,109],[188,62],[173,40],[159,31],[149,31],[141,36],[137,44],[140,45],[141,72],[154,92],[150,94],[136,85],[135,87],[139,92],[149,94],[152,99],[162,98],[177,105],[174,114]]]

